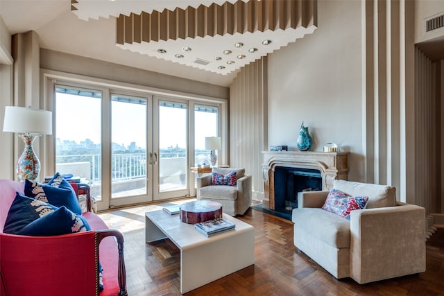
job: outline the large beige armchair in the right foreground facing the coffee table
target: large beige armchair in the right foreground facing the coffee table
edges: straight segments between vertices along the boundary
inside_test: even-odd
[[[425,209],[397,202],[395,187],[334,181],[334,189],[368,196],[350,221],[321,209],[329,191],[298,193],[294,245],[334,277],[359,284],[425,271]]]

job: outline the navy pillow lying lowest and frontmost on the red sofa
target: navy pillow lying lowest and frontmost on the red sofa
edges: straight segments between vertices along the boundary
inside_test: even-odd
[[[29,223],[18,234],[23,236],[60,236],[87,230],[91,230],[91,227],[89,227],[85,218],[62,206],[56,211]]]

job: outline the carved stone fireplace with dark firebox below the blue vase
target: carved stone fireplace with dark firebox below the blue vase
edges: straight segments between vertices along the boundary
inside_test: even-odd
[[[284,195],[289,195],[286,197],[287,202],[284,198],[283,207],[294,208],[297,207],[297,192],[330,190],[334,179],[348,180],[348,153],[346,152],[264,151],[263,155],[264,198],[262,206],[266,209],[277,210],[276,207],[282,207],[281,191],[285,191]],[[282,179],[282,175],[285,175],[283,181],[279,180]],[[293,184],[288,184],[289,177]],[[309,183],[304,184],[307,181]]]

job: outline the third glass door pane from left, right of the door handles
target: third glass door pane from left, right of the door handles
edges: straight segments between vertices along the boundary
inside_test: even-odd
[[[154,167],[158,189],[155,199],[185,196],[189,194],[187,105],[170,101],[157,102],[158,134]]]

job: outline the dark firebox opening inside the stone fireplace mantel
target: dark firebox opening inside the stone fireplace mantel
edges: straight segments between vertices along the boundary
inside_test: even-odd
[[[322,190],[321,172],[311,168],[275,168],[275,211],[291,214],[298,207],[298,192]]]

